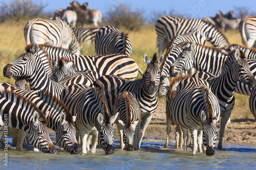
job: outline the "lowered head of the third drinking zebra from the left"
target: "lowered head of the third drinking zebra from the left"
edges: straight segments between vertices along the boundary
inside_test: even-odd
[[[105,151],[106,155],[114,154],[116,151],[113,147],[114,141],[114,128],[113,124],[118,116],[118,113],[112,117],[105,112],[104,116],[98,114],[98,143],[99,146]]]

